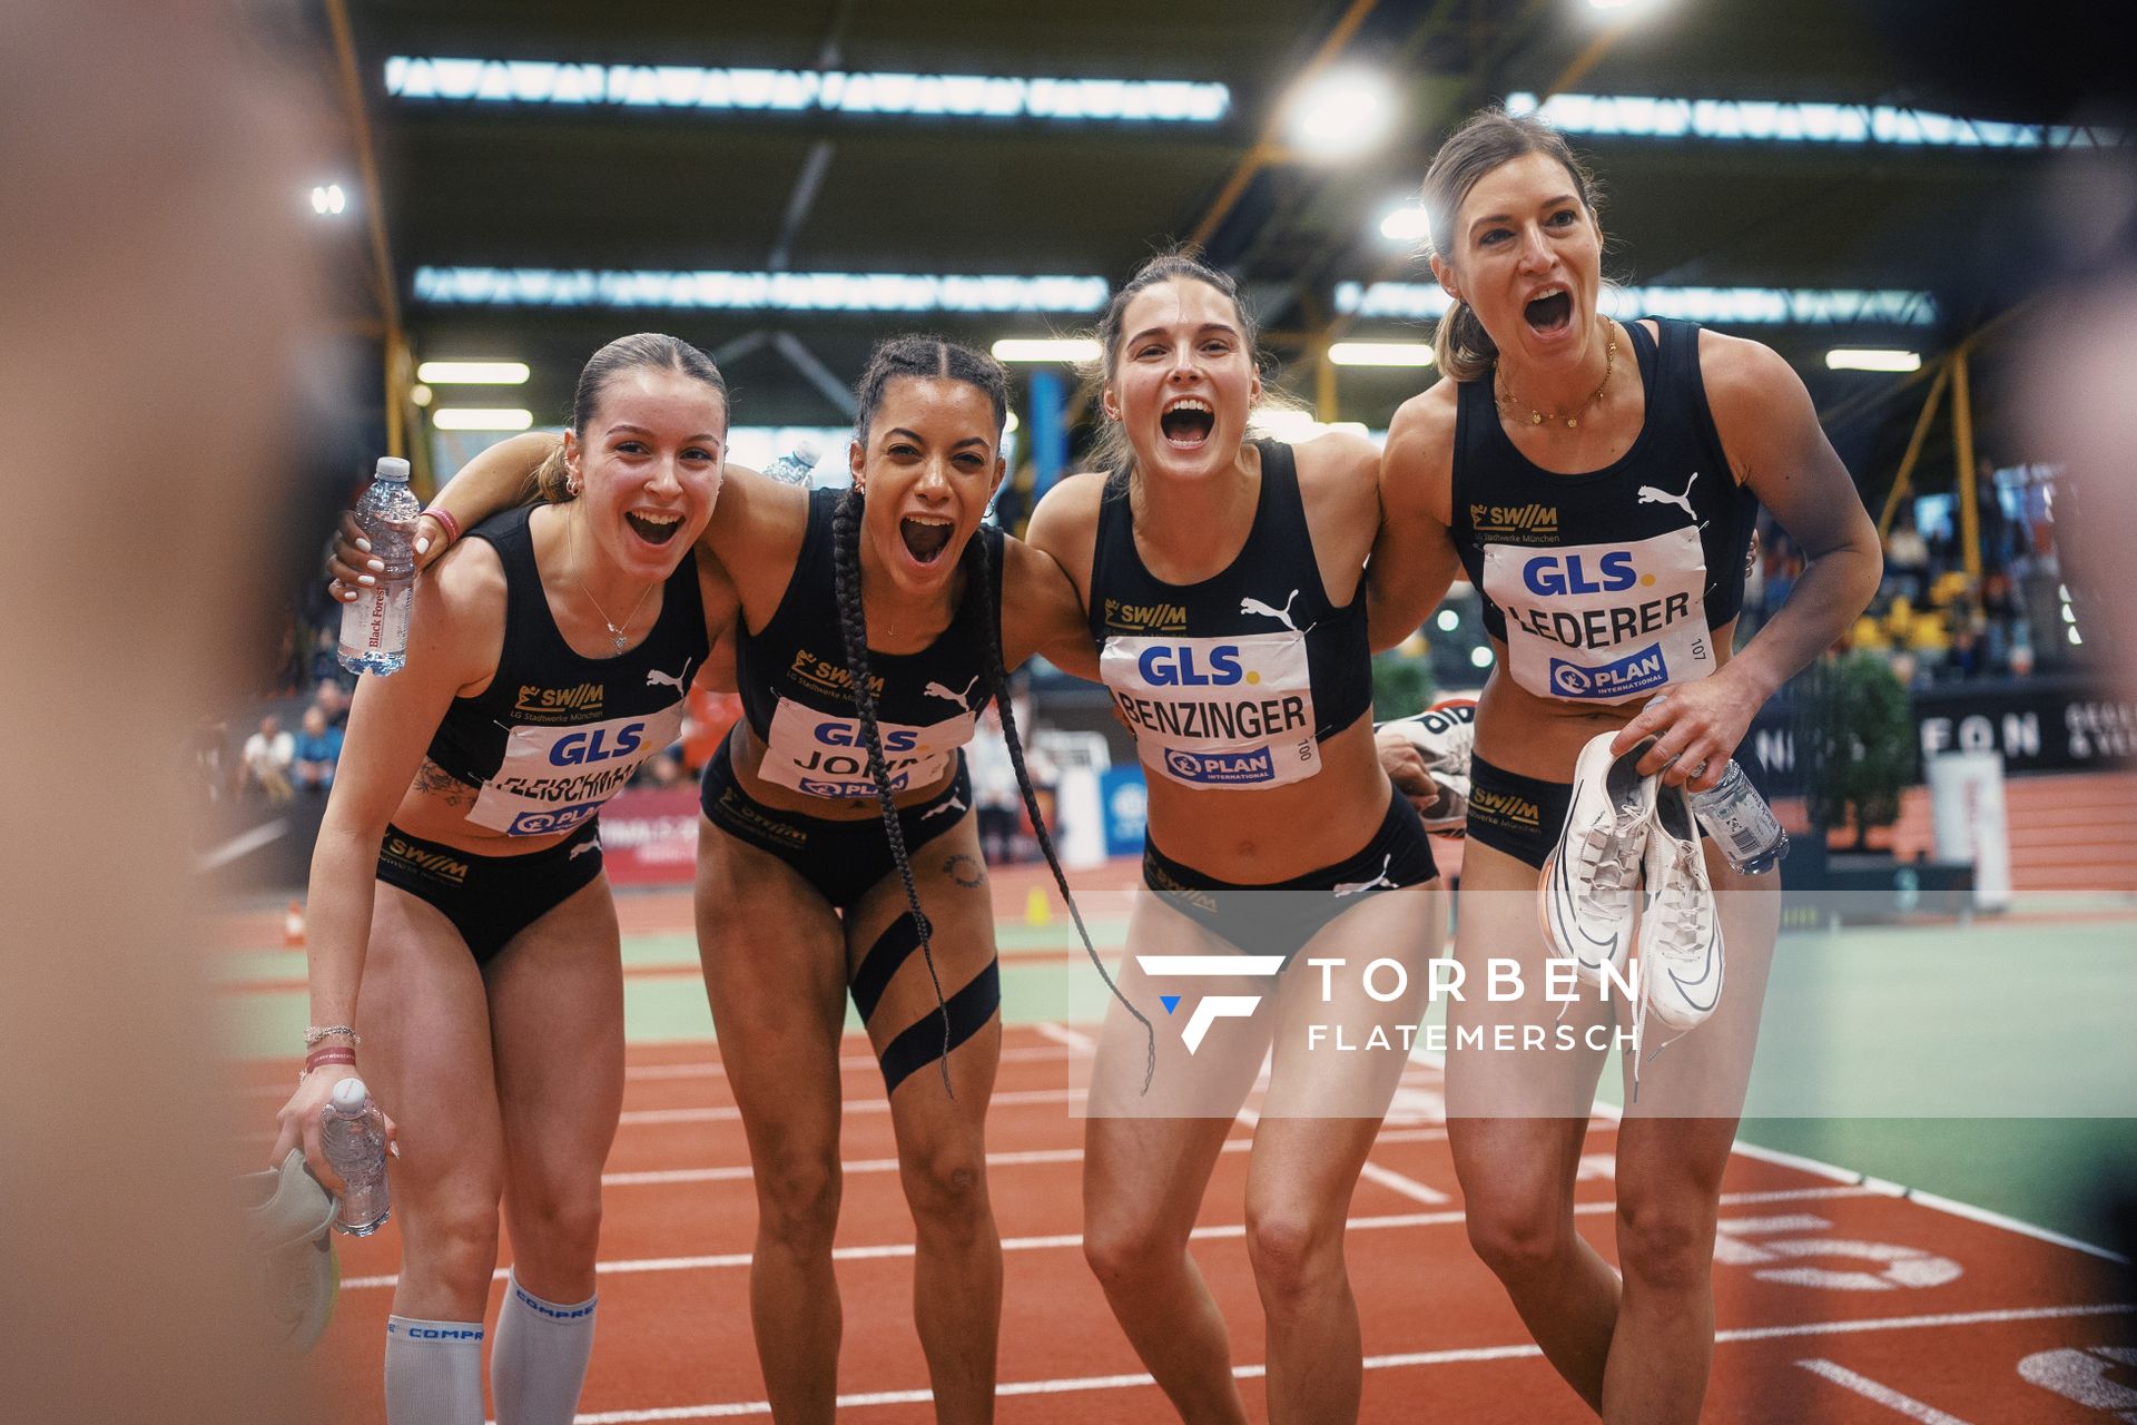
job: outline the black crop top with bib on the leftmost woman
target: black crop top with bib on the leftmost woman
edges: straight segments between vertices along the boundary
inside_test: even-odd
[[[504,564],[504,647],[489,688],[453,699],[430,761],[481,788],[468,820],[506,835],[551,835],[594,816],[630,773],[682,733],[682,696],[705,667],[697,555],[667,579],[645,641],[615,658],[577,654],[549,615],[532,506],[468,530]]]

